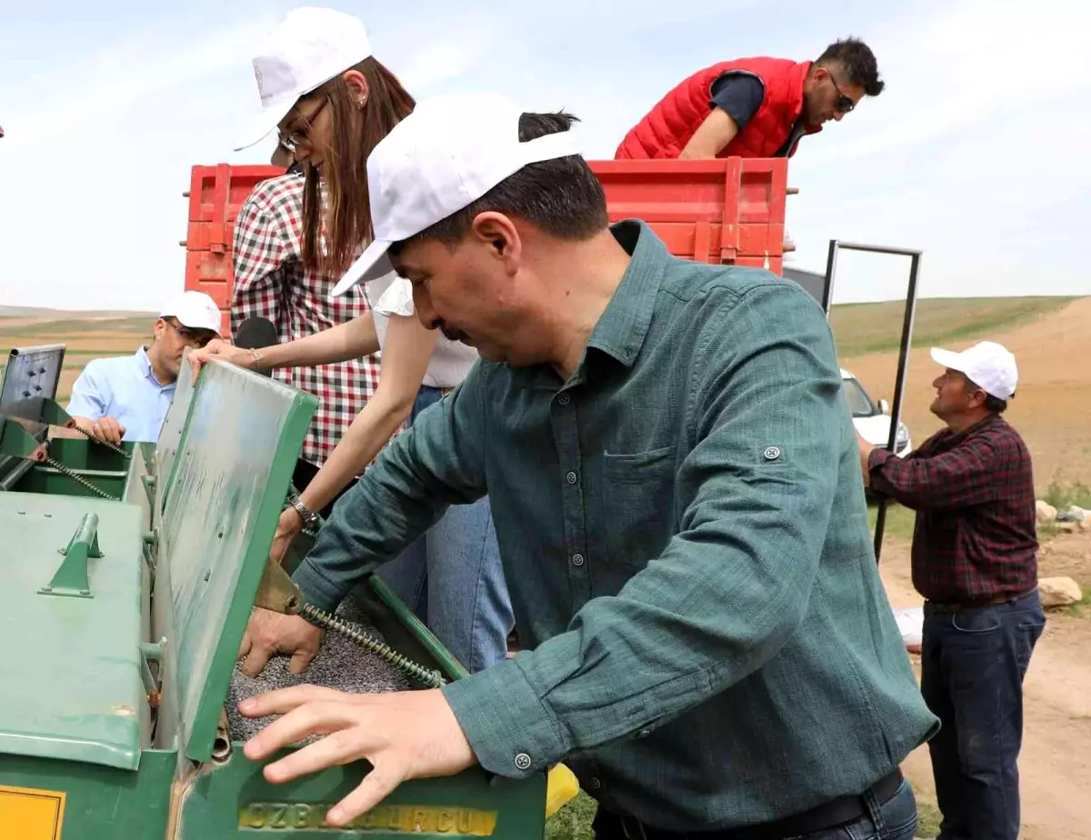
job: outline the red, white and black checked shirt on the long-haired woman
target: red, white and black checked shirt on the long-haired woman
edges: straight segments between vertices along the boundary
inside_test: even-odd
[[[363,287],[336,300],[339,279],[303,267],[303,176],[262,181],[249,195],[235,226],[235,289],[231,333],[248,317],[276,324],[280,341],[305,338],[367,314]],[[322,466],[379,385],[380,356],[313,368],[279,368],[280,382],[313,394],[319,408],[301,457]]]

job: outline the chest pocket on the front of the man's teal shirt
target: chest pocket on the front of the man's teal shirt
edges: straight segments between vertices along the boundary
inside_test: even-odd
[[[600,533],[611,564],[643,568],[662,553],[674,521],[675,447],[602,454]]]

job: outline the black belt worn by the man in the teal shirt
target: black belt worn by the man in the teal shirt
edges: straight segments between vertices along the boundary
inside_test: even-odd
[[[895,768],[875,782],[870,790],[882,804],[898,792],[901,783],[901,770]],[[711,831],[664,831],[661,828],[646,826],[632,817],[621,817],[604,812],[602,808],[599,808],[595,821],[602,826],[612,823],[618,833],[628,838],[628,840],[682,840],[683,838],[694,838],[694,840],[697,838],[700,840],[783,840],[783,838],[837,828],[860,819],[867,814],[867,805],[864,802],[865,792],[854,796],[838,796],[810,811],[793,814],[772,823]]]

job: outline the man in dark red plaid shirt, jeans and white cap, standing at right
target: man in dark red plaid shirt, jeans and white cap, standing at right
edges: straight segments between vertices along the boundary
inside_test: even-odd
[[[947,423],[898,458],[860,440],[864,481],[916,511],[913,586],[924,596],[921,688],[942,840],[1016,840],[1022,679],[1045,627],[1030,453],[1000,416],[1015,357],[992,341],[932,350]],[[859,435],[858,435],[859,436]]]

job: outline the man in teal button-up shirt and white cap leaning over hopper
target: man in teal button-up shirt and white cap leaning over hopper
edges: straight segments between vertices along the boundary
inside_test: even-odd
[[[599,838],[911,838],[898,766],[936,719],[876,571],[823,312],[768,272],[608,227],[571,122],[448,97],[369,157],[375,240],[335,293],[393,263],[421,320],[484,361],[394,440],[295,576],[333,609],[488,492],[528,649],[442,689],[251,698],[242,713],[284,717],[245,755],[336,732],[265,770],[367,757],[332,825],[405,779],[564,760]],[[259,610],[242,655],[298,667],[320,640]]]

